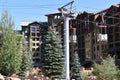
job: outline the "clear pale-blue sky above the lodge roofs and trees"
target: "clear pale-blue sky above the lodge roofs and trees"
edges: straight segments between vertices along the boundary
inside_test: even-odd
[[[22,21],[47,21],[46,14],[58,12],[58,8],[72,0],[0,0],[0,14],[7,10],[15,29],[21,30]],[[120,0],[75,0],[75,11],[99,12],[120,3]]]

